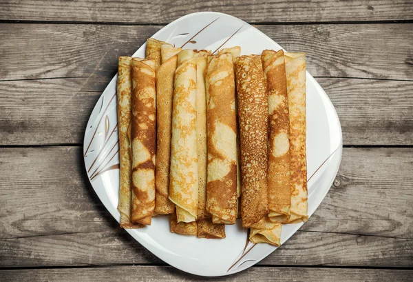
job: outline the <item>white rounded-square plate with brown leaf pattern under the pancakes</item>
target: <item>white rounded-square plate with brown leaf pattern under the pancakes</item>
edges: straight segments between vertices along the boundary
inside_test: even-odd
[[[131,27],[133,28],[133,27]],[[242,54],[261,54],[282,47],[248,23],[218,12],[188,14],[162,28],[153,38],[191,49],[217,50],[241,46]],[[145,57],[146,44],[133,57]],[[300,50],[306,51],[306,50]],[[87,123],[84,156],[87,175],[107,210],[120,220],[118,205],[119,154],[116,113],[116,79],[107,85]],[[307,72],[308,215],[326,196],[335,179],[342,152],[341,126],[326,92]],[[281,242],[303,223],[283,225]],[[127,230],[162,261],[180,270],[203,276],[240,272],[264,259],[275,249],[266,243],[248,243],[240,220],[226,225],[226,239],[198,239],[169,232],[169,216],[156,217],[152,225]]]

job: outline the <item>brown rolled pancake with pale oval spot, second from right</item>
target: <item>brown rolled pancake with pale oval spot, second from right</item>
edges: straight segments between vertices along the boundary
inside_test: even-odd
[[[290,218],[290,118],[284,52],[264,50],[262,64],[268,87],[268,217]]]

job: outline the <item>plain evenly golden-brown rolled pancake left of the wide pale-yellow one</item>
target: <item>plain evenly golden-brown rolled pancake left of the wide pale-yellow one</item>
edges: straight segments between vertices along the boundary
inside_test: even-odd
[[[169,201],[169,163],[171,156],[171,123],[173,77],[178,57],[173,56],[156,70],[156,198],[155,211],[171,214],[175,204]]]

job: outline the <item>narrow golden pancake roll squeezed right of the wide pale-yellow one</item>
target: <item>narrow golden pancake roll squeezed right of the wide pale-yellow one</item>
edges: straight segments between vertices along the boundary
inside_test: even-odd
[[[197,220],[211,217],[206,210],[207,198],[207,99],[205,98],[204,71],[211,52],[195,52],[196,60],[196,134],[198,152],[198,212]],[[201,223],[202,225],[202,223]],[[198,228],[199,228],[198,224]]]

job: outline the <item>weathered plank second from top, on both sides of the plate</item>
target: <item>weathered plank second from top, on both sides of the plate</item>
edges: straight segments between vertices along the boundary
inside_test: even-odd
[[[413,78],[413,23],[257,26],[316,77]],[[0,24],[0,80],[109,79],[159,26]],[[30,42],[30,46],[28,46]],[[29,47],[29,48],[28,48]]]

